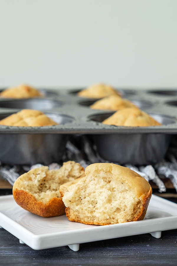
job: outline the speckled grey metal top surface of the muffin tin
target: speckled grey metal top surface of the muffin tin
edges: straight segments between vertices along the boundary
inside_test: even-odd
[[[4,99],[0,98],[0,116],[5,117],[24,108],[38,109],[44,113],[66,115],[71,121],[57,126],[15,127],[0,126],[1,133],[62,133],[62,134],[132,134],[132,133],[177,133],[177,90],[122,90],[125,98],[133,101],[140,109],[162,122],[161,126],[125,127],[105,125],[101,117],[111,111],[89,108],[95,99],[78,97],[78,90],[58,89],[45,91],[43,98]]]

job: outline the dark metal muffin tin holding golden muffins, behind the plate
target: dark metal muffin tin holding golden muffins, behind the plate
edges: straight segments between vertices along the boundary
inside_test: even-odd
[[[119,90],[124,98],[128,98],[163,124],[148,127],[102,124],[101,121],[113,112],[89,108],[95,99],[78,97],[79,89],[40,89],[40,91],[44,94],[42,98],[0,98],[0,119],[21,109],[31,108],[43,111],[60,124],[42,127],[0,125],[2,162],[48,164],[61,157],[69,134],[89,134],[96,144],[99,155],[105,160],[137,165],[157,163],[164,157],[171,135],[177,134],[177,90],[175,89]],[[45,135],[48,137],[43,140]],[[28,142],[29,145],[26,144]],[[41,151],[43,143],[45,145]],[[39,154],[37,150],[40,151]],[[20,152],[23,160],[18,156]],[[42,156],[45,153],[49,156]],[[38,155],[35,156],[36,154]]]

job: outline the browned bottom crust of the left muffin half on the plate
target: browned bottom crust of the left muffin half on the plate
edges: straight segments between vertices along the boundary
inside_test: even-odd
[[[46,204],[37,201],[35,197],[19,189],[13,189],[14,200],[23,209],[42,217],[52,217],[65,214],[65,205],[61,198],[53,197]]]

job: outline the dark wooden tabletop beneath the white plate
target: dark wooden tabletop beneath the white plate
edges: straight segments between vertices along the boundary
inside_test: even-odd
[[[0,195],[12,194],[0,189]],[[177,203],[176,197],[168,198]],[[78,252],[68,246],[33,250],[4,229],[0,229],[0,265],[177,265],[177,230],[80,244]]]

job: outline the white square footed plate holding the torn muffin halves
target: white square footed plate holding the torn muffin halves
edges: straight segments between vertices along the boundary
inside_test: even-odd
[[[0,226],[32,249],[68,245],[78,251],[80,243],[151,233],[177,228],[177,204],[152,195],[145,219],[106,226],[71,222],[66,215],[44,218],[22,209],[12,195],[0,196]]]

